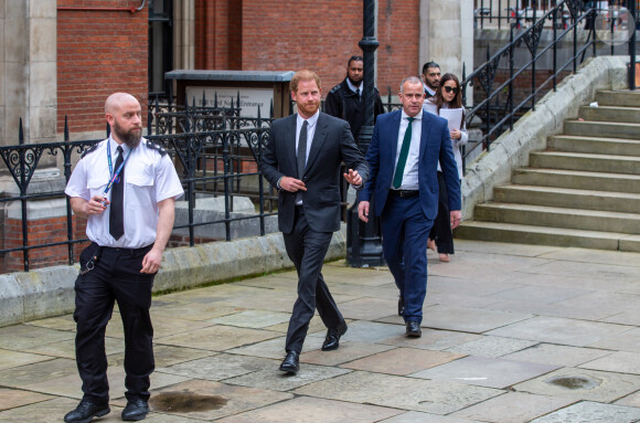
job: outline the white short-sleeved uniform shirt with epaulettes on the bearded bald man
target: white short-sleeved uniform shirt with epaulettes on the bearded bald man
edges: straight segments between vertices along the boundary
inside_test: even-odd
[[[125,158],[130,154],[125,165],[125,234],[118,241],[109,234],[110,205],[87,219],[87,236],[100,246],[140,248],[152,244],[158,226],[158,202],[179,199],[184,193],[169,155],[161,155],[158,147],[149,147],[147,142],[142,138],[134,150],[121,145]],[[105,139],[78,161],[64,191],[68,197],[89,201],[103,194],[110,180],[107,146],[110,146],[111,167],[116,171],[118,144],[113,138]],[[107,198],[110,200],[111,190]]]

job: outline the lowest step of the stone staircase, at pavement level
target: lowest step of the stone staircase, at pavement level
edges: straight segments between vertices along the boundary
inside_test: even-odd
[[[495,222],[462,222],[454,235],[465,240],[573,246],[640,253],[640,235]]]

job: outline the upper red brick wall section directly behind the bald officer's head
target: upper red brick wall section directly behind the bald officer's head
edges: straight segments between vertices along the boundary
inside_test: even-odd
[[[58,0],[60,7],[131,8],[139,0]],[[148,96],[148,12],[57,11],[57,133],[106,127],[105,99],[117,91]]]

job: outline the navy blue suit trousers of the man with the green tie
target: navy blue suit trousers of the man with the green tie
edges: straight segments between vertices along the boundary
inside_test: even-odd
[[[423,212],[419,195],[387,197],[381,215],[382,250],[405,300],[405,321],[423,321],[427,295],[427,236],[433,224]]]

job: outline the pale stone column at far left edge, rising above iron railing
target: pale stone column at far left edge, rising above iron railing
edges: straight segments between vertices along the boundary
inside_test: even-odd
[[[56,0],[0,0],[0,145],[55,140]],[[53,161],[52,161],[53,162]]]

